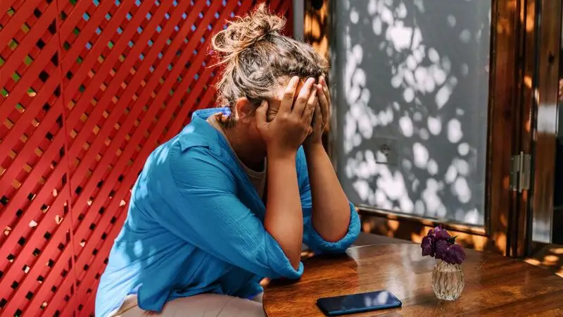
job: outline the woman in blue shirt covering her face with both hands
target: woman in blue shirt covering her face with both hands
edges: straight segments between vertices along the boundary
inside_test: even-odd
[[[360,221],[321,142],[327,62],[259,6],[213,38],[225,108],[153,151],[96,294],[98,316],[263,316],[263,278],[298,279],[302,243],[343,252]]]

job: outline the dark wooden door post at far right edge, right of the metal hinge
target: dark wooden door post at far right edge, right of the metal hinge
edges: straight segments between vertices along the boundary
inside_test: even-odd
[[[563,63],[560,55],[562,41],[561,0],[536,0],[540,25],[536,32],[536,76],[532,89],[537,93],[531,98],[529,116],[528,144],[533,153],[531,195],[526,201],[528,208],[530,237],[527,246],[528,254],[551,242],[553,225],[553,201],[555,194],[555,159],[557,144],[557,120],[543,120],[542,118],[557,118],[559,101],[557,98],[559,84],[559,63]],[[541,126],[539,123],[541,122]],[[559,125],[562,125],[559,123]],[[527,144],[525,144],[527,145]],[[540,220],[549,221],[548,232],[533,228]],[[539,242],[533,242],[536,240]]]

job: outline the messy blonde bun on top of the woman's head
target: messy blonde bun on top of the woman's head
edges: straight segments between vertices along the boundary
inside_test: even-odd
[[[286,21],[268,11],[264,3],[245,17],[227,23],[227,28],[213,37],[213,49],[222,55],[220,63],[228,61],[248,46],[270,34],[279,34]]]

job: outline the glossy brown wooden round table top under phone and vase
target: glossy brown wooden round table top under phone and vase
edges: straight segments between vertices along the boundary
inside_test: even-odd
[[[324,316],[322,297],[388,290],[403,302],[394,310],[353,316],[563,316],[563,278],[529,263],[466,250],[465,288],[453,302],[436,299],[436,260],[418,244],[353,247],[341,256],[305,260],[297,282],[272,281],[264,292],[267,316]]]

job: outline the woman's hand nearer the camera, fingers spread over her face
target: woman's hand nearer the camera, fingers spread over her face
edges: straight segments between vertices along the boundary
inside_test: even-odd
[[[256,109],[256,124],[262,139],[266,142],[267,154],[271,157],[295,156],[311,132],[312,114],[315,112],[317,88],[315,79],[309,78],[293,102],[299,77],[292,77],[281,99],[275,118],[267,122],[267,101]],[[292,107],[293,106],[293,107]]]

